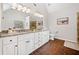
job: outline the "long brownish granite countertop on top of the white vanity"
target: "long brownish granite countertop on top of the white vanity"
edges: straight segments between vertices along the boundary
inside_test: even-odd
[[[16,36],[16,35],[22,35],[22,34],[35,33],[35,32],[41,32],[41,31],[46,31],[46,30],[12,32],[12,33],[0,33],[0,38],[2,38],[2,37],[8,37],[8,36]]]

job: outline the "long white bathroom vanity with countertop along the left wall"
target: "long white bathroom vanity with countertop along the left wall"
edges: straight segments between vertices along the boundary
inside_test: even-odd
[[[49,31],[20,32],[0,36],[1,55],[28,55],[49,41]]]

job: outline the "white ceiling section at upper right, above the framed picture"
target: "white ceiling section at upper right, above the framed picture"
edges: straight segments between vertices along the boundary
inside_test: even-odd
[[[79,3],[51,3],[46,4],[48,13],[59,11],[59,10],[68,10],[68,9],[74,9],[79,7]]]

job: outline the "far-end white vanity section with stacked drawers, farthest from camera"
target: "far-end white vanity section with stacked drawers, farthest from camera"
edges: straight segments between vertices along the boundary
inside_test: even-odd
[[[41,47],[49,41],[49,31],[37,32],[34,35],[34,47],[35,49]]]

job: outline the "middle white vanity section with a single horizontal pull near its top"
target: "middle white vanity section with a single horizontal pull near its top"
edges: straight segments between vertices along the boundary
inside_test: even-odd
[[[28,55],[34,51],[34,33],[18,36],[18,54]]]

